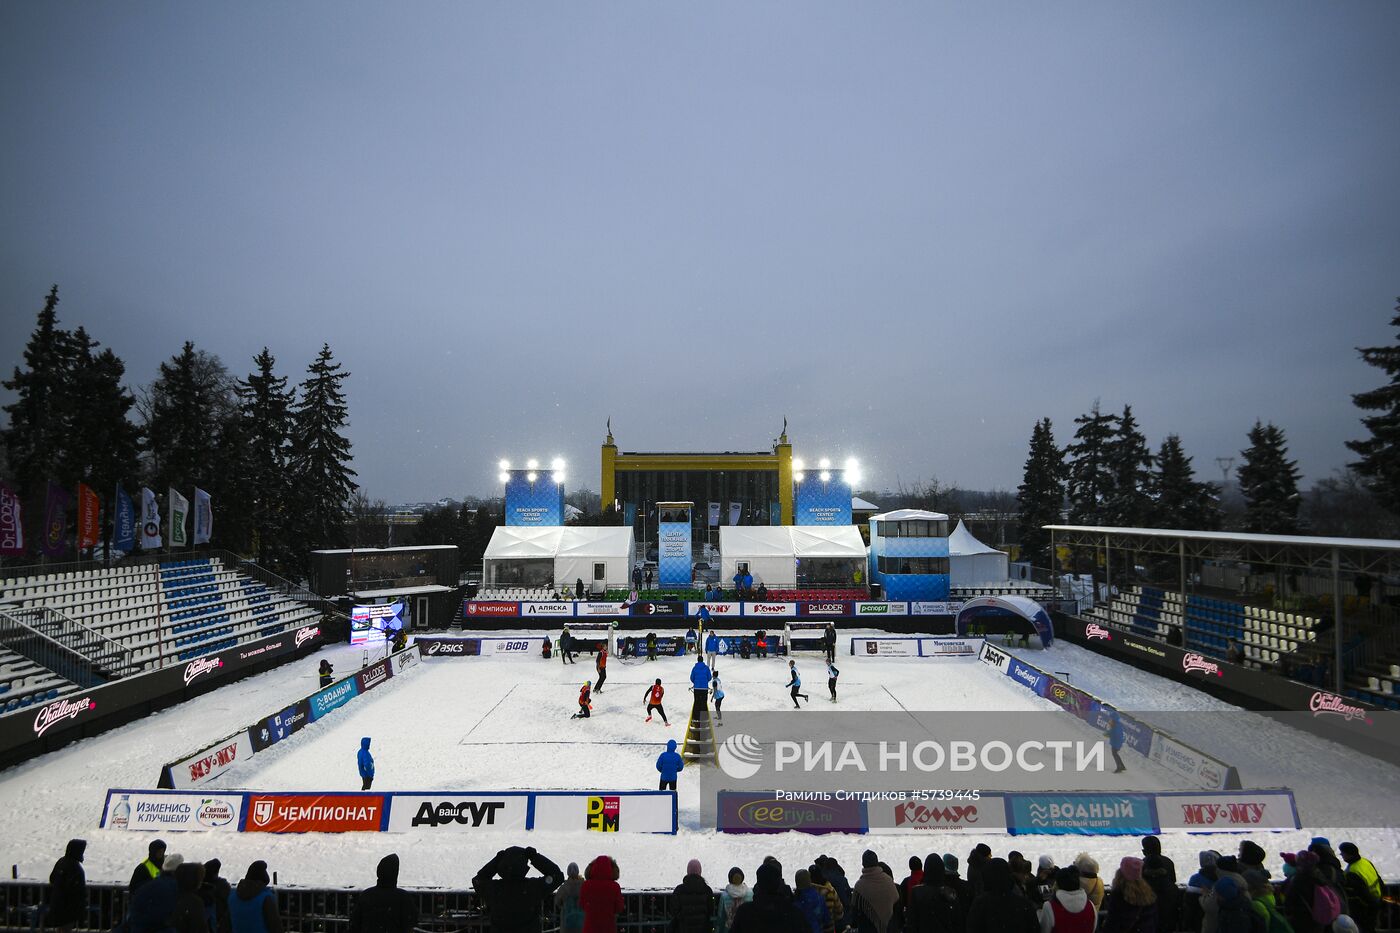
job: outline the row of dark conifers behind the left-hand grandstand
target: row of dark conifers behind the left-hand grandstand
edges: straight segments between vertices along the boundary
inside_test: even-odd
[[[295,387],[267,347],[235,378],[218,356],[185,342],[134,391],[126,364],[85,328],[59,325],[53,286],[4,387],[3,474],[24,503],[27,541],[36,541],[49,482],[84,482],[104,503],[111,539],[112,497],[148,486],[199,486],[214,503],[214,544],[301,576],[314,548],[347,539],[351,468],[344,382],[322,345]]]

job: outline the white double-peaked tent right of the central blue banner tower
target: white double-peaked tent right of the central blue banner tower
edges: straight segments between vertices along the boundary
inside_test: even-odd
[[[721,525],[721,583],[739,563],[770,590],[795,587],[799,574],[801,583],[851,586],[864,580],[865,541],[855,525]]]

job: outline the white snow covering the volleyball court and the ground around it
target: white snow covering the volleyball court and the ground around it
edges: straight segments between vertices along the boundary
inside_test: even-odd
[[[48,877],[63,842],[83,836],[90,841],[90,878],[127,878],[144,853],[147,838],[95,828],[105,790],[153,787],[165,761],[311,692],[315,689],[315,661],[322,656],[330,657],[342,672],[353,670],[361,657],[358,649],[330,649],[316,658],[225,686],[178,709],[0,772],[0,800],[6,804],[0,811],[0,864],[15,864],[20,877]],[[1075,646],[1029,651],[1026,660],[1068,672],[1074,684],[1121,709],[1232,713],[1191,717],[1184,724],[1182,717],[1173,716],[1170,723],[1182,740],[1238,765],[1246,786],[1327,782],[1336,794],[1357,799],[1400,786],[1400,770],[1355,751]],[[249,790],[358,790],[354,751],[361,735],[372,735],[378,761],[375,790],[654,789],[652,762],[661,744],[671,737],[680,740],[685,733],[690,664],[687,658],[615,660],[603,693],[595,699],[594,719],[574,723],[568,716],[574,712],[578,685],[592,678],[587,656],[574,667],[539,658],[426,658],[417,671],[391,679],[228,772],[218,783]],[[977,661],[847,656],[839,665],[843,710],[1056,709]],[[728,693],[725,710],[787,709],[785,667],[785,661],[777,658],[722,664]],[[813,699],[825,693],[825,678],[818,678],[819,660],[815,656],[799,660],[799,667],[813,688]],[[669,688],[668,713],[675,723],[671,728],[659,720],[643,721],[643,691],[655,677]],[[823,699],[802,714],[820,716],[827,709],[830,705]],[[1183,731],[1193,728],[1191,723],[1198,734]],[[1128,763],[1138,765],[1142,759],[1130,755]],[[938,850],[965,857],[973,845],[987,842],[998,855],[1019,849],[1032,859],[1049,853],[1061,863],[1079,850],[1089,850],[1112,874],[1109,866],[1137,849],[1134,839],[1112,838],[720,835],[697,825],[699,789],[696,780],[687,778],[685,775],[680,782],[679,836],[535,832],[528,843],[560,864],[584,864],[606,852],[620,863],[623,885],[629,888],[671,887],[692,857],[701,860],[708,878],[722,883],[732,864],[752,877],[756,864],[769,853],[777,855],[788,871],[808,864],[819,853],[833,855],[847,869],[854,869],[861,850],[875,848],[897,870],[910,855]],[[1152,783],[1172,786],[1165,776],[1144,782],[1142,773],[1124,786],[1144,789]],[[1308,828],[1260,839],[1275,863],[1278,852],[1302,848],[1312,835],[1322,834],[1333,843],[1357,841],[1382,874],[1400,874],[1400,829],[1317,828],[1326,825],[1324,803],[1299,800]],[[1320,822],[1310,817],[1313,813],[1322,814]],[[1183,871],[1196,864],[1198,850],[1235,850],[1242,838],[1169,834],[1163,836],[1163,849]],[[266,859],[284,884],[356,887],[372,881],[375,863],[391,850],[403,859],[405,884],[466,885],[497,849],[525,842],[497,831],[335,838],[172,834],[168,841],[171,850],[186,859],[218,856],[227,866],[225,874],[231,876],[239,876],[253,859]],[[1278,864],[1271,867],[1278,870]]]

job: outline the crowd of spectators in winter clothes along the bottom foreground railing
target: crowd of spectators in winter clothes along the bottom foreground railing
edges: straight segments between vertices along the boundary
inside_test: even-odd
[[[53,866],[42,926],[88,929],[83,859],[87,843],[73,839]],[[1338,857],[1340,853],[1340,857]],[[836,859],[819,856],[791,873],[767,856],[753,885],[741,867],[713,887],[699,860],[669,898],[672,933],[1373,933],[1385,904],[1385,883],[1351,842],[1334,852],[1315,838],[1281,853],[1273,877],[1267,853],[1243,841],[1232,855],[1200,853],[1184,880],[1144,836],[1141,855],[1124,856],[1105,884],[1099,863],[1079,853],[1058,866],[1035,864],[1021,852],[997,857],[976,846],[960,864],[952,853],[911,856],[895,871],[874,850],[861,857],[854,881]],[[132,873],[130,899],[118,933],[283,933],[266,862],[248,866],[231,885],[217,859],[186,862],[160,839]],[[472,878],[490,929],[539,933],[547,919],[563,933],[615,933],[626,911],[617,863],[601,855],[585,871],[561,870],[532,848],[503,849]],[[651,887],[644,883],[644,887]],[[417,898],[399,887],[399,857],[385,856],[375,884],[349,913],[349,933],[412,933]]]

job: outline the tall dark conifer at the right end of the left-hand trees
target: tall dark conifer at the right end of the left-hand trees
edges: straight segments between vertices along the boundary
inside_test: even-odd
[[[349,373],[333,361],[330,346],[322,345],[307,367],[301,398],[293,413],[291,510],[298,555],[315,548],[333,548],[346,539],[350,497],[358,489],[350,468],[350,441],[340,431],[349,420],[342,382]]]

